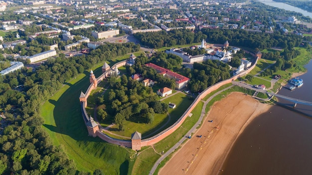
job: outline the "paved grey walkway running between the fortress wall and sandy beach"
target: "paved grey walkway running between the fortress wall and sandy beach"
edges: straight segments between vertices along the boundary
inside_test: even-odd
[[[227,87],[223,90],[220,90],[218,91],[217,93],[213,94],[211,97],[209,97],[206,101],[204,101],[204,106],[201,110],[201,114],[200,114],[200,117],[198,119],[198,121],[194,124],[194,126],[186,133],[185,137],[182,137],[172,148],[170,148],[167,152],[165,152],[157,161],[156,163],[154,164],[152,170],[150,171],[150,174],[149,175],[153,175],[156,171],[156,168],[158,167],[158,165],[161,163],[161,161],[163,161],[164,158],[166,158],[167,156],[169,156],[175,149],[177,149],[183,142],[184,140],[188,139],[187,136],[191,135],[191,133],[194,133],[196,128],[199,126],[199,124],[201,123],[202,119],[204,118],[205,116],[205,110],[206,110],[206,105],[207,103],[213,98],[215,97],[216,95],[218,95],[219,93],[223,92],[224,90],[227,90],[229,88],[233,87],[230,86],[230,87]]]

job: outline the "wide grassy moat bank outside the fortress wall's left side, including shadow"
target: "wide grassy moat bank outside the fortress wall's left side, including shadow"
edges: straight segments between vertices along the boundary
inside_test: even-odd
[[[129,55],[107,61],[111,66],[129,58]],[[96,77],[102,74],[103,64],[93,68]],[[78,75],[67,82],[42,106],[44,129],[56,146],[61,146],[68,157],[74,161],[78,171],[93,172],[102,170],[108,175],[127,175],[132,171],[134,152],[131,149],[106,143],[100,138],[88,136],[81,115],[79,95],[89,83],[89,72]]]

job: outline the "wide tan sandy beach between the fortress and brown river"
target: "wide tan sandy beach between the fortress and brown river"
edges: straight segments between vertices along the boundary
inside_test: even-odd
[[[217,175],[237,137],[269,108],[241,92],[214,103],[202,126],[160,169],[159,175]]]

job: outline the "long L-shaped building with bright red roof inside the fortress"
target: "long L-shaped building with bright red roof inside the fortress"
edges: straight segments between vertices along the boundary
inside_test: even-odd
[[[175,72],[172,72],[168,69],[162,68],[160,66],[157,66],[153,63],[148,63],[145,66],[151,67],[156,69],[157,73],[162,74],[165,77],[168,77],[170,79],[175,80],[175,88],[180,90],[183,87],[186,87],[187,83],[189,82],[189,78],[181,76],[180,74],[177,74]]]

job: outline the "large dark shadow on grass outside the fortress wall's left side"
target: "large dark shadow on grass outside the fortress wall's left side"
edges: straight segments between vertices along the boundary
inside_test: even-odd
[[[96,69],[94,72],[100,74],[101,68]],[[88,71],[84,71],[84,74],[90,75]],[[74,85],[69,83],[65,84],[68,85],[69,88],[67,88],[57,100],[49,99],[49,102],[54,105],[53,117],[55,126],[50,123],[44,124],[43,126],[52,132],[68,135],[76,141],[93,140],[100,142],[101,139],[94,139],[88,136],[79,101],[81,91],[86,91],[90,85],[89,76],[85,76]]]

